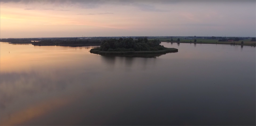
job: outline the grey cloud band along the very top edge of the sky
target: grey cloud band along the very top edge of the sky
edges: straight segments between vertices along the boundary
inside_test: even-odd
[[[255,0],[244,0],[255,2]],[[217,2],[217,3],[234,3],[241,2],[240,0],[1,0],[1,3],[20,3],[20,4],[33,4],[38,3],[40,6],[43,4],[51,4],[53,6],[60,7],[79,7],[83,9],[95,9],[104,5],[116,5],[116,6],[133,6],[138,7],[140,11],[145,12],[169,12],[169,9],[159,9],[155,7],[156,5],[166,5],[166,4],[177,4],[177,3],[204,3],[205,2]],[[33,9],[31,9],[33,10]]]

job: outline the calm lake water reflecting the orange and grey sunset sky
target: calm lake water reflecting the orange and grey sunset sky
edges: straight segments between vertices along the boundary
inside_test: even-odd
[[[255,47],[162,45],[179,52],[1,43],[1,126],[256,125]]]

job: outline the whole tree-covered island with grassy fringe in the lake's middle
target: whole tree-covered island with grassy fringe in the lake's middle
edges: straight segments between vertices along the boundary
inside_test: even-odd
[[[119,38],[101,42],[100,47],[93,48],[90,53],[101,56],[156,58],[166,53],[178,52],[176,48],[166,48],[159,40],[149,41],[145,38]]]

